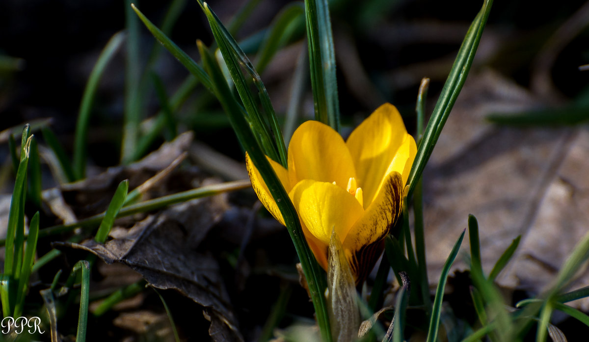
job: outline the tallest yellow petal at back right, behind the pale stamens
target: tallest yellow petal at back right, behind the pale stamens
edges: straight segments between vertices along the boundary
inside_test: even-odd
[[[391,104],[377,108],[350,134],[346,145],[356,167],[356,180],[363,191],[365,208],[378,193],[391,161],[408,137],[411,136],[407,134],[401,114]]]

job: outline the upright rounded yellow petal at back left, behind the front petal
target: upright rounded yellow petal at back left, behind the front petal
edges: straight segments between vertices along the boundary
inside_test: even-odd
[[[342,137],[319,121],[307,121],[294,131],[288,159],[290,184],[315,180],[346,187],[350,177],[356,174]]]

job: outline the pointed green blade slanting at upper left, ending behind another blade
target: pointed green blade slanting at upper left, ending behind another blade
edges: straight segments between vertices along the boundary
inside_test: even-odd
[[[204,87],[212,91],[213,84],[211,84],[209,75],[207,75],[204,69],[201,68],[200,65],[194,61],[194,59],[190,58],[186,52],[182,51],[178,45],[171,41],[170,38],[164,34],[164,32],[162,32],[151,21],[149,21],[149,19],[147,19],[147,17],[145,17],[145,15],[143,15],[143,13],[141,13],[137,7],[135,7],[135,5],[131,4],[131,7],[137,16],[139,16],[139,19],[141,19],[145,27],[147,27],[151,34],[153,34],[155,39],[157,39],[157,41],[159,41],[160,44],[164,46],[164,48],[170,51],[170,53],[176,57],[176,59],[178,59],[178,61],[188,69],[188,72],[194,75],[194,77],[196,77],[196,79],[198,79],[198,81],[200,81]]]

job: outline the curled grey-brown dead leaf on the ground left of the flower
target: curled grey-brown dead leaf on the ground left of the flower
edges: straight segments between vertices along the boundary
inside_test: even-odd
[[[126,234],[115,230],[115,238],[105,244],[57,245],[90,251],[108,264],[128,265],[153,287],[180,291],[209,313],[211,331],[233,338],[223,341],[242,341],[217,260],[205,248],[196,250],[226,208],[226,195],[200,198],[149,215]]]

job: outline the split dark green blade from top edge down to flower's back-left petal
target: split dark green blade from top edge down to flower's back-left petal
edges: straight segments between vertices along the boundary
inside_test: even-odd
[[[199,1],[200,3],[200,1]],[[274,114],[274,108],[270,97],[266,91],[266,87],[262,83],[260,75],[254,69],[252,62],[247,58],[246,54],[241,50],[235,39],[229,34],[229,31],[223,26],[219,18],[214,14],[207,4],[203,3],[203,11],[209,19],[209,24],[219,49],[223,54],[223,59],[229,68],[231,78],[235,84],[237,92],[240,95],[241,101],[243,101],[246,112],[250,117],[250,124],[253,125],[254,132],[260,138],[259,143],[264,148],[264,152],[274,161],[280,162],[286,167],[286,147],[284,146],[284,139],[282,137],[282,131]],[[268,130],[266,121],[263,119],[262,114],[257,108],[256,102],[254,101],[252,92],[247,85],[246,79],[241,73],[240,65],[243,66],[246,71],[252,76],[254,84],[259,92],[260,101],[266,116],[269,119],[270,127],[272,127],[272,134],[274,134],[274,141],[270,131]]]

